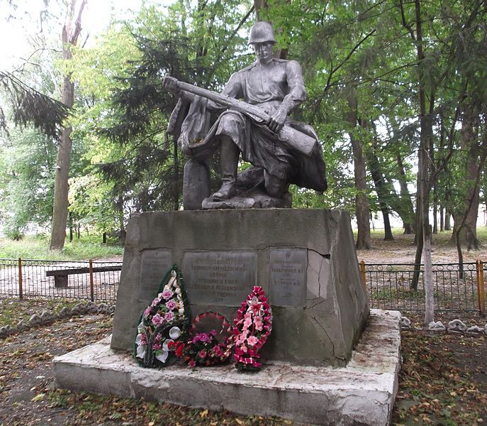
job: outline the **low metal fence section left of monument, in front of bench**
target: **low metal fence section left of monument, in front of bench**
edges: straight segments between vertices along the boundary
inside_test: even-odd
[[[0,259],[0,295],[116,300],[121,262]]]

